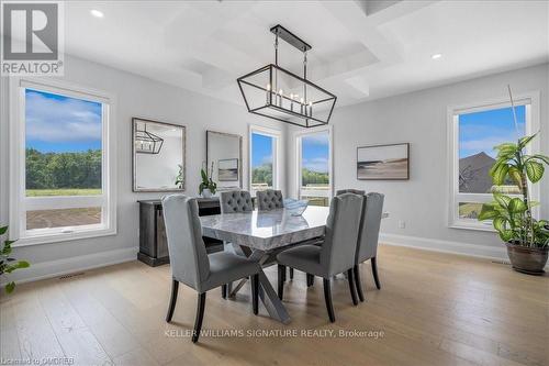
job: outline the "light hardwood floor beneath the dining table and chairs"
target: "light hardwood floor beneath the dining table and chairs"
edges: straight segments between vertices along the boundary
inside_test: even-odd
[[[204,330],[371,331],[371,337],[202,336],[192,344],[195,292],[180,287],[175,322],[164,321],[169,267],[132,262],[18,287],[0,301],[3,362],[74,357],[75,365],[549,365],[549,277],[486,259],[383,245],[382,289],[361,266],[367,302],[333,284],[336,323],[322,281],[296,271],[284,288],[289,325],[251,313],[249,285],[236,300],[208,293]],[[276,285],[276,267],[268,270]],[[381,333],[378,333],[381,335]],[[222,335],[222,334],[219,334]],[[54,358],[55,359],[55,358]]]

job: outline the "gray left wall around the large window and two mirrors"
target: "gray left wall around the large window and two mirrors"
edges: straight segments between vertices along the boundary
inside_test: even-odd
[[[8,222],[8,82],[2,77],[1,86],[1,149],[0,149],[0,222]],[[247,188],[247,146],[248,124],[259,124],[283,130],[280,123],[249,114],[244,106],[236,106],[184,89],[157,82],[137,75],[125,73],[104,65],[68,57],[65,63],[65,77],[72,84],[112,92],[116,96],[117,124],[117,234],[97,239],[41,244],[18,247],[14,255],[33,264],[97,254],[107,251],[138,246],[138,204],[139,199],[160,198],[161,193],[132,192],[131,119],[149,118],[187,125],[187,193],[195,196],[200,182],[200,168],[205,160],[205,131],[214,130],[239,134],[244,137],[244,187]],[[235,88],[236,88],[235,82]],[[283,142],[282,142],[283,143]],[[283,152],[282,152],[283,153]],[[285,156],[282,155],[282,179]],[[282,187],[284,188],[284,187]],[[82,263],[86,263],[83,260]],[[40,268],[40,266],[34,266]],[[48,270],[48,269],[44,269]],[[31,273],[31,271],[29,271]],[[19,276],[24,276],[20,271]]]

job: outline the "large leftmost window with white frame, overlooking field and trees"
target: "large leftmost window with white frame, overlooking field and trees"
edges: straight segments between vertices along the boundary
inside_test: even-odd
[[[18,243],[115,233],[112,98],[24,79],[12,96],[10,225]]]

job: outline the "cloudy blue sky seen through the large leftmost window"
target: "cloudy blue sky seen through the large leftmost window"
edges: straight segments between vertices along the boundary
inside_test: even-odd
[[[26,147],[42,153],[101,148],[101,103],[25,90]]]

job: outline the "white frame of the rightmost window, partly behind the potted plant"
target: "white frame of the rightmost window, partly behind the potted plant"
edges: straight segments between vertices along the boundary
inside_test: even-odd
[[[515,107],[526,106],[526,135],[539,131],[539,91],[525,92],[513,96]],[[485,203],[493,200],[491,193],[460,193],[459,192],[459,114],[481,112],[493,109],[508,108],[508,96],[502,96],[483,102],[468,103],[464,106],[448,107],[448,226],[452,229],[479,230],[495,232],[492,222],[481,222],[459,218],[459,202]],[[527,147],[527,154],[539,152],[540,136],[533,140]],[[539,201],[539,185],[530,186],[530,196]],[[512,195],[511,195],[512,196]],[[518,196],[517,196],[518,197]],[[534,215],[539,214],[539,208],[534,209]]]

